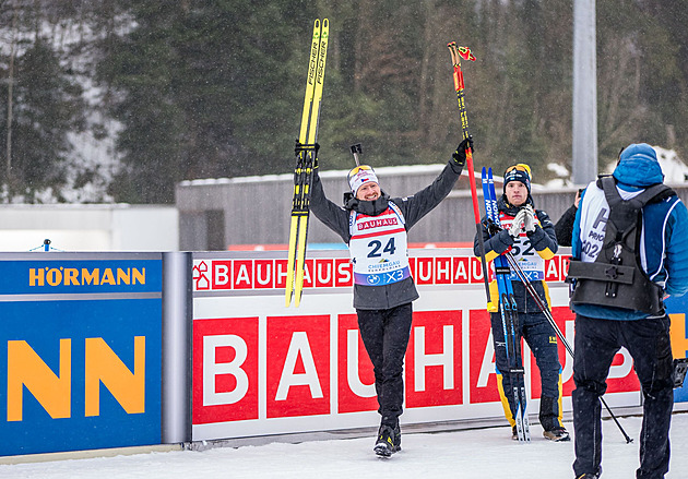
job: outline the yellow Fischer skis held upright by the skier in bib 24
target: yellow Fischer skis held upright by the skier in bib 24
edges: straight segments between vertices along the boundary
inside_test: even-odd
[[[306,96],[301,113],[301,129],[296,145],[296,168],[294,169],[294,197],[292,200],[292,223],[289,228],[289,251],[287,259],[287,278],[285,306],[289,307],[294,296],[294,306],[298,307],[304,288],[304,261],[306,259],[306,238],[310,205],[310,184],[313,169],[317,167],[316,142],[320,120],[320,103],[324,82],[324,68],[328,56],[330,23],[313,23],[313,37],[308,61]]]

